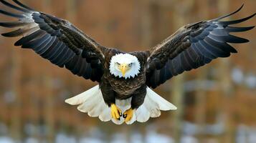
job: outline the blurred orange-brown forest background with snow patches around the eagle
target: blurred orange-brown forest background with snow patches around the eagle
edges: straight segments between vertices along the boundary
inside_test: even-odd
[[[255,13],[255,0],[23,0],[68,19],[100,44],[146,50],[179,29],[238,9]],[[1,9],[6,9],[1,5]],[[1,15],[1,21],[10,20]],[[240,26],[252,26],[256,18]],[[4,33],[4,29],[0,29]],[[250,43],[228,59],[174,77],[156,92],[178,110],[146,123],[115,125],[78,112],[64,100],[97,83],[75,77],[0,36],[0,142],[256,142],[256,29],[237,34]]]

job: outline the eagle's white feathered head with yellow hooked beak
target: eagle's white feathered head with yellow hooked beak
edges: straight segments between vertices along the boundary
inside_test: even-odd
[[[110,74],[125,79],[136,77],[141,69],[141,64],[136,56],[131,54],[115,54],[110,60]]]

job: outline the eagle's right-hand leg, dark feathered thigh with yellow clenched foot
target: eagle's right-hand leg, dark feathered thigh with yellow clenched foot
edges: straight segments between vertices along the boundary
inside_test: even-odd
[[[141,87],[136,91],[136,94],[133,94],[131,99],[131,108],[123,112],[123,118],[125,118],[125,122],[129,122],[133,118],[133,112],[135,109],[140,107],[146,96],[146,87]]]

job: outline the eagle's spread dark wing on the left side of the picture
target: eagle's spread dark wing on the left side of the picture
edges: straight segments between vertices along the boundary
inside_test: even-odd
[[[0,22],[0,26],[16,29],[3,36],[22,36],[15,46],[33,49],[52,64],[65,67],[85,79],[100,82],[105,47],[83,34],[69,21],[34,11],[17,0],[13,1],[16,5],[0,0],[1,4],[19,12],[0,10],[1,14],[18,19]]]

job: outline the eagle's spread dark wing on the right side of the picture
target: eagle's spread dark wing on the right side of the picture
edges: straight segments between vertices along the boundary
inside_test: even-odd
[[[237,13],[240,9],[232,14]],[[237,53],[236,49],[228,43],[239,44],[248,42],[248,40],[232,36],[229,33],[248,31],[254,26],[235,27],[231,25],[246,21],[255,14],[244,19],[220,21],[232,14],[183,26],[161,44],[153,47],[146,69],[148,87],[156,88],[184,71],[204,66],[212,59]]]

